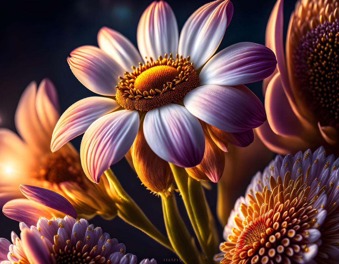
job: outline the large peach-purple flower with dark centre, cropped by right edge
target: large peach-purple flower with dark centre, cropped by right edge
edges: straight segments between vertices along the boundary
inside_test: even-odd
[[[278,0],[266,27],[265,44],[276,53],[278,65],[263,82],[267,121],[258,135],[281,154],[319,145],[338,154],[338,1],[297,1],[285,54],[283,7]]]

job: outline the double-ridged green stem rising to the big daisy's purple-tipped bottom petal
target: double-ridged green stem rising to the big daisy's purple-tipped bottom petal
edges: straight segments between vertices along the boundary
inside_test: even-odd
[[[205,261],[213,263],[213,256],[218,252],[218,237],[214,219],[208,207],[201,184],[188,176],[184,168],[169,164],[185,204],[199,244],[205,254]]]

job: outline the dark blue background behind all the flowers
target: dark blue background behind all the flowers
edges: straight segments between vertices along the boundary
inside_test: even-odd
[[[44,77],[49,77],[54,82],[62,111],[84,97],[93,96],[94,93],[86,89],[69,69],[66,62],[69,52],[81,45],[97,45],[97,32],[102,26],[121,32],[137,46],[138,21],[149,3],[151,1],[135,0],[2,2],[0,126],[15,131],[15,109],[22,91],[32,80],[39,83]],[[168,3],[174,10],[180,30],[186,19],[206,2],[169,0]],[[274,4],[275,1],[234,0],[233,18],[218,51],[241,41],[264,44],[266,23]],[[285,32],[294,5],[293,0],[285,1]],[[263,100],[261,82],[249,84],[248,87]],[[77,148],[80,140],[81,136],[73,140]],[[165,233],[160,199],[140,185],[136,174],[124,159],[112,168],[126,191],[159,230]],[[247,183],[234,192],[243,195],[246,185]],[[216,185],[206,195],[212,211],[215,212]],[[187,220],[181,201],[179,205],[183,218]],[[3,215],[0,215],[0,222],[0,237],[10,239],[11,230],[19,233],[18,222]],[[163,259],[176,257],[174,253],[119,218],[109,222],[96,217],[90,222],[101,226],[111,237],[125,243],[127,252],[136,254],[139,261],[154,257],[158,263],[163,263]],[[187,224],[189,225],[188,220]],[[221,240],[220,225],[218,230]]]

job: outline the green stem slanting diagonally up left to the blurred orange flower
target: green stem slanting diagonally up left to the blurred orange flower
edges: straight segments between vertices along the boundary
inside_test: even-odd
[[[118,216],[126,221],[128,224],[140,229],[145,232],[151,238],[158,241],[163,246],[174,251],[171,242],[166,238],[152,223],[149,221],[144,212],[140,207],[133,201],[133,199],[126,193],[119,183],[117,177],[113,174],[112,170],[109,168],[105,171],[105,174],[111,185],[111,191],[115,193],[114,201],[116,207],[118,208]]]

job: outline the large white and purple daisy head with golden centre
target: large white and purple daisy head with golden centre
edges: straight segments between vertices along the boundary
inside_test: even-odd
[[[253,141],[252,129],[266,116],[260,100],[243,83],[270,76],[277,63],[270,49],[250,42],[213,56],[232,14],[229,0],[205,4],[188,18],[179,37],[172,8],[165,1],[154,1],[139,21],[139,51],[122,34],[103,27],[98,33],[100,48],[81,46],[67,61],[89,90],[115,98],[89,97],[68,108],[54,129],[52,151],[85,133],[82,166],[87,177],[98,183],[143,130],[151,153],[143,159],[151,157],[152,164],[136,162],[134,152],[137,173],[142,170],[138,166],[149,166],[146,171],[168,167],[158,166],[160,158],[194,167],[205,154],[201,167],[216,172],[202,174],[217,182],[224,166],[208,162],[213,160],[208,155],[214,154],[205,150],[205,140],[224,151],[228,142],[247,146]],[[200,175],[201,170],[193,174]]]

